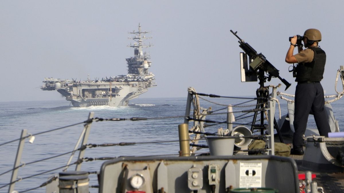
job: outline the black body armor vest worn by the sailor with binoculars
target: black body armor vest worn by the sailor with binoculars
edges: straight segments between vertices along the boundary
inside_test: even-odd
[[[299,63],[296,67],[296,82],[321,81],[323,79],[326,53],[319,47],[310,47],[314,52],[314,58],[310,63]]]

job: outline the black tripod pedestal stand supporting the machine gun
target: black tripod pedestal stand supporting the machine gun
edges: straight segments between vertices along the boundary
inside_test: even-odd
[[[268,101],[269,98],[269,89],[266,88],[264,86],[264,82],[266,82],[266,77],[264,76],[264,71],[262,72],[258,72],[258,79],[259,79],[259,85],[260,87],[257,89],[256,91],[256,96],[257,96],[257,105],[256,105],[256,109],[263,109],[265,107],[265,105],[267,104],[266,102]],[[257,115],[258,112],[256,111],[254,116],[253,116],[253,120],[252,120],[252,125],[251,125],[251,132],[253,133],[254,129],[260,129],[260,134],[263,135],[264,134],[264,111],[260,112],[260,124],[259,126],[255,125],[256,121],[257,121]],[[279,140],[281,143],[283,142],[283,138],[282,138],[282,134],[280,132],[280,129],[277,125],[277,121],[276,118],[273,119],[273,127],[276,129]],[[273,135],[273,133],[271,133],[271,135]]]

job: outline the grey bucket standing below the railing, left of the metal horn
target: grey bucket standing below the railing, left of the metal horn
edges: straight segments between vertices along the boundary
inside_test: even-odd
[[[207,137],[211,156],[233,156],[234,138]]]

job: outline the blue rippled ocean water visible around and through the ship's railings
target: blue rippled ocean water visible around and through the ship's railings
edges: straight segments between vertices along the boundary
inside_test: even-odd
[[[252,96],[251,96],[252,97]],[[205,97],[204,97],[205,98]],[[209,99],[209,98],[208,98]],[[202,107],[212,107],[215,113],[228,104],[240,104],[248,99],[211,98],[215,103],[200,99]],[[281,114],[286,114],[287,102],[280,101]],[[244,107],[235,107],[233,111],[238,124],[247,124],[252,117],[243,118],[247,115],[240,113],[242,110],[254,109],[256,101],[240,104]],[[331,103],[335,118],[339,121],[343,131],[342,117],[344,115],[344,100]],[[130,118],[147,117],[145,121],[99,121],[93,122],[87,144],[104,144],[120,142],[152,142],[130,146],[111,146],[87,148],[85,156],[88,158],[119,157],[119,156],[150,156],[150,155],[178,155],[178,125],[184,122],[186,98],[139,98],[130,101],[126,107],[92,106],[76,108],[70,106],[68,101],[25,101],[25,102],[0,102],[0,144],[20,138],[21,130],[27,129],[28,133],[37,134],[51,129],[60,128],[87,120],[88,114],[94,112],[94,117],[99,118]],[[248,114],[251,115],[251,114]],[[226,114],[208,115],[207,120],[226,121]],[[275,117],[278,119],[279,111],[276,109]],[[192,124],[192,123],[191,123]],[[190,124],[190,125],[191,125]],[[226,124],[212,124],[206,128],[206,132],[216,132],[219,127],[226,128]],[[236,126],[236,125],[234,125]],[[24,163],[34,162],[40,159],[61,155],[72,151],[83,124],[58,129],[49,133],[36,135],[31,144],[25,140],[24,151],[21,161]],[[249,127],[249,126],[247,126]],[[315,128],[313,116],[310,116],[308,127]],[[154,142],[155,141],[155,142]],[[156,141],[165,141],[156,143]],[[19,141],[0,146],[0,174],[13,168]],[[201,142],[202,143],[202,142]],[[205,142],[203,142],[205,143]],[[200,152],[207,152],[203,149]],[[45,172],[54,168],[65,166],[70,154],[49,159],[37,163],[27,164],[21,167],[18,172],[19,178],[25,178],[37,173]],[[75,153],[72,162],[76,161],[78,152]],[[82,163],[83,171],[99,171],[104,161],[96,160]],[[75,165],[67,171],[75,170]],[[58,174],[62,169],[51,171],[32,178],[23,179],[15,183],[15,190],[25,191],[40,186],[48,177]],[[0,186],[10,182],[11,173],[0,175]],[[97,185],[97,177],[90,174],[90,185]],[[0,189],[0,192],[7,192],[9,186]],[[28,192],[45,192],[45,187]],[[90,192],[98,192],[96,188],[90,188]]]

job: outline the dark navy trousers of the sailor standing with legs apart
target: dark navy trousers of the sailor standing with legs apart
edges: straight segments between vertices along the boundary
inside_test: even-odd
[[[306,131],[310,112],[314,115],[314,120],[320,136],[327,137],[328,133],[331,132],[324,104],[324,90],[320,82],[298,83],[295,90],[294,149],[301,149],[303,146],[302,135],[304,135]]]

